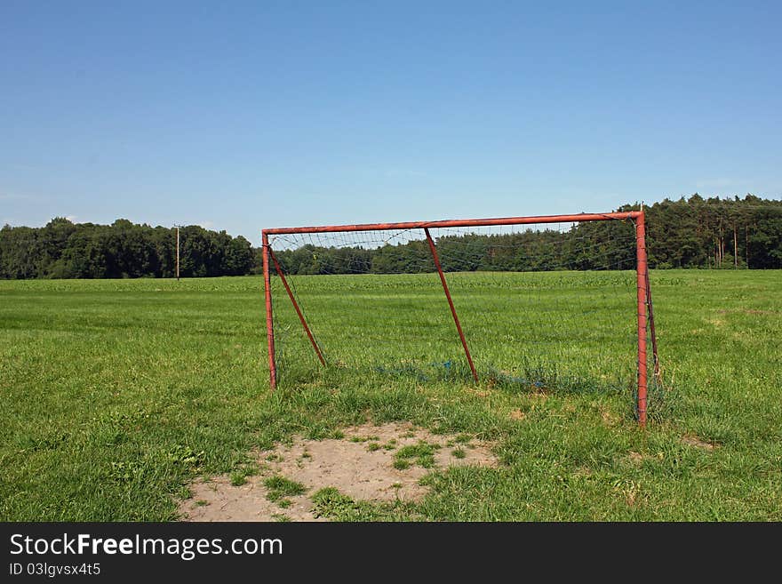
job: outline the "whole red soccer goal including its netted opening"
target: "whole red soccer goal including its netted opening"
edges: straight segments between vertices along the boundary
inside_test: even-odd
[[[631,391],[646,423],[659,362],[642,211],[271,228],[262,242],[272,389],[342,367]]]

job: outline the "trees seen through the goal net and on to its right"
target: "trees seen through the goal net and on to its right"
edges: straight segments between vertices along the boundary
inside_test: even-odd
[[[626,204],[617,211],[637,211]],[[665,199],[644,207],[650,268],[782,268],[782,201]],[[504,235],[441,236],[445,271],[629,269],[635,265],[634,225],[626,221],[578,223],[564,231],[527,229]],[[426,241],[327,247],[305,244],[275,252],[291,274],[394,274],[435,270]]]

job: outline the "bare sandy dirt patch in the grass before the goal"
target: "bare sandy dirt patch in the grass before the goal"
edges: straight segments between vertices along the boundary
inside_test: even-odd
[[[354,500],[416,501],[427,493],[420,479],[435,469],[497,464],[491,444],[409,423],[364,424],[343,433],[339,440],[297,436],[291,445],[256,452],[260,472],[239,486],[226,476],[195,482],[180,515],[185,521],[316,521],[310,497],[324,487]],[[265,482],[273,476],[302,484],[305,492],[272,502]]]

